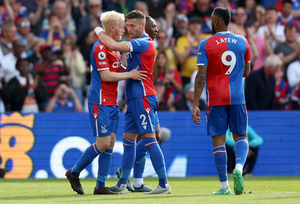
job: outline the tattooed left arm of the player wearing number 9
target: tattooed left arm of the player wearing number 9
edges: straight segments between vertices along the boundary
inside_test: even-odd
[[[192,118],[194,120],[194,123],[201,124],[200,119],[200,110],[198,108],[198,103],[200,100],[201,93],[203,91],[205,81],[206,81],[206,72],[207,72],[207,66],[200,65],[198,66],[198,72],[195,78],[195,88],[194,88],[194,101],[193,101],[193,114]]]

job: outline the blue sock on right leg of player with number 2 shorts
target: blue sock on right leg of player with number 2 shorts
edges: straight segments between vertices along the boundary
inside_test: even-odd
[[[145,137],[143,138],[143,143],[149,151],[150,159],[154,167],[155,172],[158,175],[159,183],[162,188],[167,188],[167,172],[165,167],[164,155],[161,152],[157,140],[155,137]]]

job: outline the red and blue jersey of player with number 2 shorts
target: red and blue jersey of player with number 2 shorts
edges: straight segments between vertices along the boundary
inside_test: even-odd
[[[148,34],[144,34],[142,37],[126,43],[130,50],[126,58],[126,71],[130,72],[139,66],[138,70],[147,71],[148,73],[145,75],[148,77],[144,81],[126,79],[125,99],[157,95],[152,76],[155,63],[155,46],[151,37]]]

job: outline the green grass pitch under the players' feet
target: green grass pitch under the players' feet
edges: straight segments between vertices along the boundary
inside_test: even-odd
[[[217,177],[169,178],[172,194],[143,195],[93,195],[95,179],[82,179],[85,190],[77,195],[66,179],[0,179],[0,203],[104,203],[104,204],[190,204],[190,203],[300,203],[300,177],[245,177],[245,194],[211,195],[217,190]],[[107,185],[113,185],[117,179],[108,179]],[[154,188],[158,179],[145,178],[145,183]],[[231,189],[233,180],[229,178]],[[233,189],[232,189],[232,193]]]

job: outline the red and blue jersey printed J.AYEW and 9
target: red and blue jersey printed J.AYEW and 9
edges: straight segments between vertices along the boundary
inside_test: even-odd
[[[208,106],[245,103],[242,78],[249,62],[247,40],[229,31],[216,33],[199,44],[197,66],[207,66]]]

